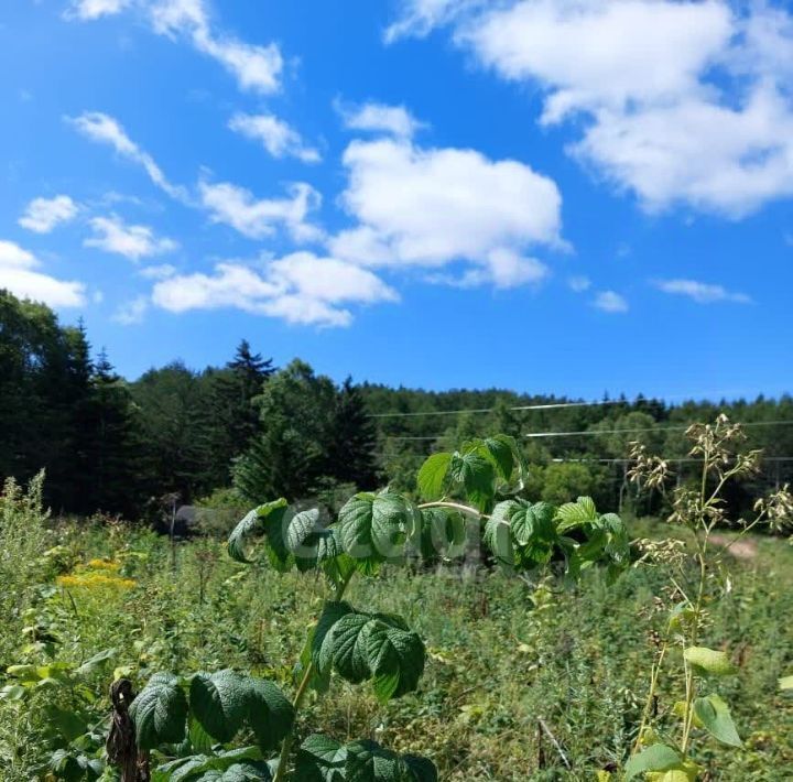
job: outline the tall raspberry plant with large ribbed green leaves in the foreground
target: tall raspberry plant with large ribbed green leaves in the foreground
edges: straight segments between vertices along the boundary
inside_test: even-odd
[[[357,493],[330,523],[318,510],[297,511],[284,499],[251,510],[228,540],[230,556],[246,564],[263,560],[280,572],[319,572],[327,586],[294,667],[294,695],[290,700],[272,682],[233,671],[152,676],[129,710],[138,749],[173,758],[152,780],[436,780],[430,760],[370,740],[341,745],[314,734],[297,743],[297,717],[308,692],[327,694],[334,675],[367,683],[381,703],[416,691],[426,658],[420,636],[402,618],[361,610],[345,597],[356,577],[378,575],[383,565],[461,555],[467,519],[482,525],[490,554],[517,572],[556,568],[576,579],[596,564],[615,577],[628,566],[618,517],[600,515],[588,498],[562,508],[529,502],[520,496],[524,476],[515,443],[499,435],[431,456],[417,476],[423,501],[390,489]],[[241,730],[256,742],[228,749]],[[278,757],[268,758],[279,746]]]

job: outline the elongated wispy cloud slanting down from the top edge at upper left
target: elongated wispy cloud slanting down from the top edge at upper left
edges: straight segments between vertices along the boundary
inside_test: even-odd
[[[242,89],[274,93],[280,86],[283,57],[275,44],[260,46],[230,35],[217,35],[209,24],[203,0],[159,0],[150,10],[154,31],[176,37],[186,35],[193,45],[220,63]]]

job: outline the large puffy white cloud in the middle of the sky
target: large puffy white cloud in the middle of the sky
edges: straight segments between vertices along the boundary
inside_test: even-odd
[[[341,202],[358,226],[330,240],[337,258],[428,268],[463,261],[474,272],[465,284],[507,287],[544,276],[526,249],[563,247],[558,189],[523,163],[389,138],[352,142],[344,163]]]

